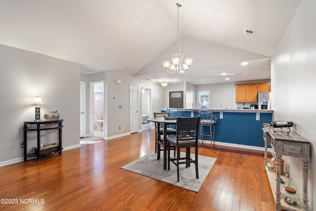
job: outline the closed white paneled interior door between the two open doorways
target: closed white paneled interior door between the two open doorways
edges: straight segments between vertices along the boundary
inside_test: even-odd
[[[137,106],[138,87],[134,85],[130,85],[129,91],[130,91],[130,99],[129,99],[130,133],[134,133],[138,131],[138,106]]]

